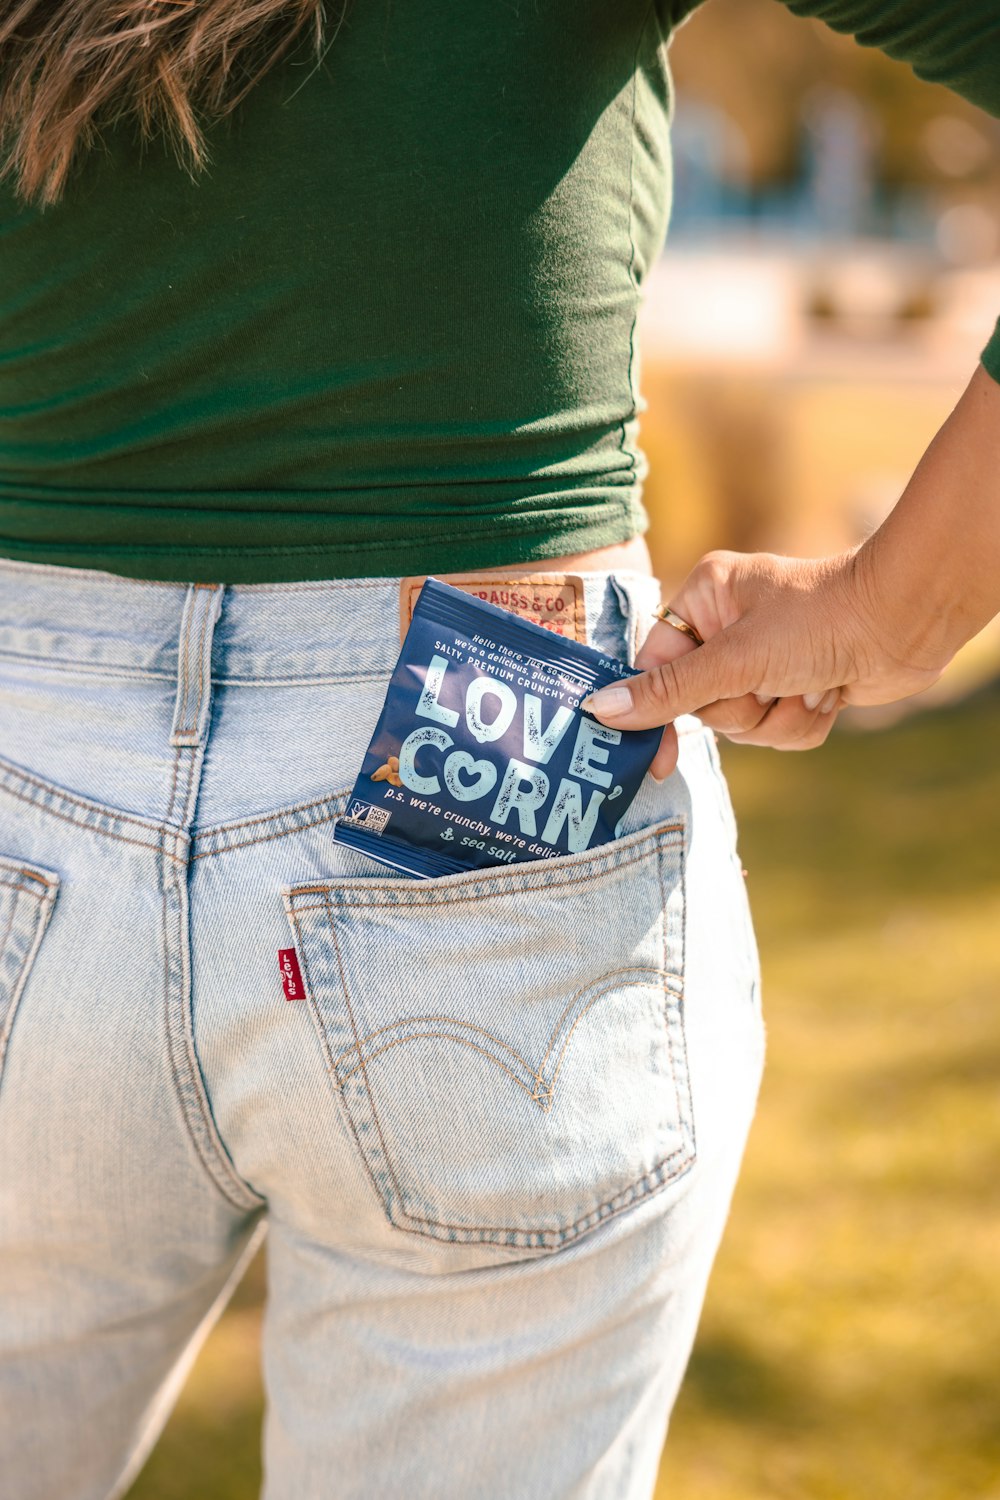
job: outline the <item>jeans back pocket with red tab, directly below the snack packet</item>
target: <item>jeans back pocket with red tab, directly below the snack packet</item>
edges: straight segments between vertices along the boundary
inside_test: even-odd
[[[687,1172],[685,826],[433,880],[285,886],[390,1222],[556,1250]]]

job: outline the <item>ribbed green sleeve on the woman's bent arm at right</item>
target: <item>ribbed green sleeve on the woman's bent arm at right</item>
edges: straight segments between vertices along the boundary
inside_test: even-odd
[[[1000,0],[784,0],[1000,118]],[[981,360],[1000,382],[1000,318]]]

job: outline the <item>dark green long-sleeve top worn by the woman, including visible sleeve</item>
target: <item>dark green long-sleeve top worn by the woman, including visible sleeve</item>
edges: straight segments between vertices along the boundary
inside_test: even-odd
[[[696,4],[352,0],[193,182],[120,124],[55,206],[0,188],[0,555],[276,582],[645,530],[636,315]],[[999,0],[787,8],[1000,117]]]

